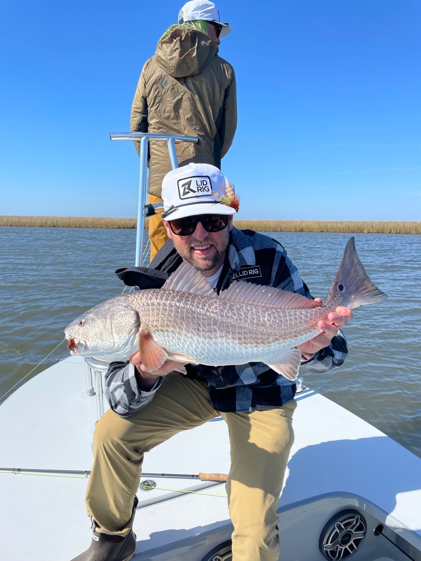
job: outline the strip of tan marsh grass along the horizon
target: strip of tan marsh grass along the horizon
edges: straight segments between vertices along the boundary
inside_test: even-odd
[[[421,222],[354,220],[234,220],[240,229],[256,232],[347,232],[378,234],[421,234]],[[5,216],[0,226],[47,228],[136,228],[135,218],[94,218],[74,216]],[[145,228],[149,227],[148,218]]]

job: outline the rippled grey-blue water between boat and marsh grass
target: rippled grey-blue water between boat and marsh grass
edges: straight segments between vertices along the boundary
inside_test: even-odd
[[[274,232],[314,296],[324,297],[349,234]],[[118,295],[134,230],[0,227],[0,396],[62,341],[84,310]],[[389,295],[355,310],[341,369],[305,383],[421,457],[421,236],[356,234],[368,274]],[[68,356],[62,344],[38,367]],[[31,375],[31,376],[32,376]]]

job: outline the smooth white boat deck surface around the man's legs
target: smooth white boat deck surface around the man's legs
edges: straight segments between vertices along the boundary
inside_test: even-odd
[[[359,495],[385,511],[387,526],[409,528],[421,544],[421,460],[311,390],[297,401],[281,507],[327,493]],[[22,385],[0,407],[0,467],[90,470],[96,420],[95,397],[86,396],[83,359],[67,358]],[[228,473],[229,468],[227,427],[218,418],[149,452],[143,471]],[[140,502],[199,483],[151,479],[161,489],[139,490]],[[0,561],[66,561],[86,549],[86,482],[85,477],[0,473]],[[148,559],[143,552],[158,546],[227,527],[224,486],[202,493],[140,508],[134,560]]]

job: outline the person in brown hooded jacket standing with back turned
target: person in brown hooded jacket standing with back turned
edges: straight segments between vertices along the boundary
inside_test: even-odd
[[[221,169],[237,127],[234,68],[218,56],[219,38],[230,33],[213,2],[191,0],[177,25],[159,39],[144,65],[131,107],[132,132],[197,136],[197,144],[176,144],[180,165],[208,163]],[[135,142],[139,153],[139,142]],[[162,203],[161,185],[170,171],[164,142],[149,145],[149,203]],[[161,213],[149,219],[150,259],[168,239]]]

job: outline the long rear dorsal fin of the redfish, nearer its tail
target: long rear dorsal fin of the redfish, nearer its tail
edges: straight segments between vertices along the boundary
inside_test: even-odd
[[[310,300],[295,292],[252,284],[245,280],[235,280],[225,291],[221,292],[219,298],[277,310],[315,308],[322,305],[321,302]]]

